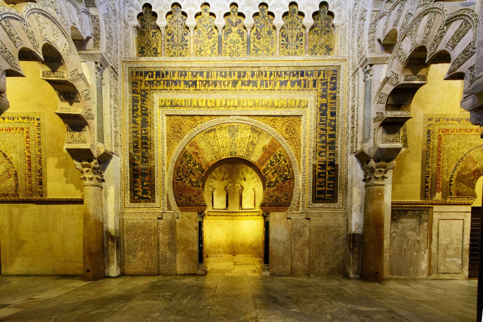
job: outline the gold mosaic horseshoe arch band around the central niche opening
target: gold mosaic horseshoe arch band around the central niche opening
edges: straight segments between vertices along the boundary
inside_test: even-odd
[[[217,161],[239,157],[262,173],[266,190],[261,207],[287,211],[298,207],[299,172],[295,154],[280,134],[245,117],[222,117],[191,131],[176,148],[168,169],[171,209],[204,210],[202,180]],[[295,167],[294,167],[295,166]]]

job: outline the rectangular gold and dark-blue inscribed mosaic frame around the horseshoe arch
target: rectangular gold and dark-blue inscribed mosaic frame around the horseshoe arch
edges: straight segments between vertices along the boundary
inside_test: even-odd
[[[249,115],[263,111],[277,111],[277,114],[286,115],[287,112],[295,112],[291,109],[290,101],[287,108],[273,108],[269,105],[260,105],[258,110],[252,106],[237,106],[237,102],[227,102],[221,92],[245,93],[248,96],[265,95],[277,92],[279,96],[297,91],[298,95],[307,98],[317,93],[313,106],[309,106],[308,135],[305,141],[292,142],[291,149],[298,155],[298,166],[301,168],[301,181],[304,184],[301,196],[302,209],[307,208],[342,208],[343,199],[346,196],[347,173],[345,164],[347,155],[344,145],[344,122],[345,110],[343,94],[345,92],[345,63],[340,61],[306,61],[306,62],[251,62],[252,67],[238,62],[203,62],[184,63],[174,62],[131,62],[125,63],[125,206],[126,207],[161,207],[169,210],[164,202],[161,204],[160,196],[166,196],[166,185],[169,180],[163,178],[165,173],[160,168],[167,168],[167,151],[172,151],[171,146],[166,146],[165,120],[159,120],[159,115],[185,114],[189,115],[186,108],[205,114],[209,112],[213,116],[223,115]],[[168,66],[168,64],[170,66]],[[325,65],[325,66],[322,66]],[[282,67],[281,67],[282,66]],[[259,67],[264,67],[260,70]],[[161,69],[161,70],[160,70]],[[156,70],[156,71],[155,71]],[[266,92],[265,92],[266,91]],[[176,92],[182,92],[176,93]],[[160,110],[159,114],[152,112],[151,108],[156,103],[155,94],[164,95],[164,102],[168,110]],[[169,96],[172,95],[170,98]],[[181,95],[181,97],[176,97]],[[198,104],[190,108],[185,101],[180,100],[183,95],[194,95],[198,98],[206,98],[208,106],[214,106],[214,98],[219,99],[220,108],[213,110],[203,109]],[[214,95],[209,98],[206,95]],[[236,97],[235,97],[236,98]],[[157,98],[159,99],[159,97]],[[171,101],[171,99],[178,99]],[[184,99],[184,98],[183,98]],[[211,100],[210,100],[211,99]],[[222,100],[225,100],[222,103]],[[159,101],[161,101],[159,99]],[[193,99],[189,100],[192,104]],[[261,100],[259,100],[261,101]],[[182,102],[182,103],[180,103]],[[184,105],[185,104],[185,105]],[[225,106],[223,105],[225,104]],[[231,104],[231,105],[230,105]],[[161,104],[162,105],[162,104]],[[198,110],[196,110],[198,109]],[[173,112],[170,112],[172,110]],[[231,110],[230,112],[227,112]],[[302,110],[300,110],[302,111]],[[163,114],[164,113],[164,114]],[[267,113],[265,113],[267,115]],[[296,114],[297,115],[297,114]],[[300,115],[300,114],[298,114]],[[254,116],[254,115],[252,115]],[[161,122],[159,122],[161,121]],[[163,124],[164,123],[164,124]],[[160,129],[158,132],[156,129]],[[153,130],[154,129],[154,130]],[[283,132],[283,130],[280,130]],[[300,129],[301,137],[307,133]],[[170,133],[170,135],[173,133]],[[283,134],[283,133],[282,133]],[[294,133],[285,133],[294,135]],[[166,133],[166,135],[168,135]],[[174,133],[174,136],[181,136]],[[163,140],[164,139],[164,140]],[[161,142],[161,144],[159,144]],[[290,144],[290,140],[289,140]],[[303,148],[307,146],[309,156],[304,162]],[[300,151],[300,153],[298,152]],[[303,170],[308,163],[307,171]],[[161,167],[159,168],[160,165]],[[163,167],[164,166],[164,167]],[[308,172],[308,173],[307,173]],[[159,184],[162,182],[162,184]],[[305,185],[307,183],[307,185]],[[311,187],[308,189],[307,187]],[[312,189],[312,187],[314,187]],[[308,210],[310,211],[310,210]]]

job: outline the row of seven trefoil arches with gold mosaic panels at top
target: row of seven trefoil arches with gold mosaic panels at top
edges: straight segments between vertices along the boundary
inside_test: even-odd
[[[136,50],[137,56],[160,56],[160,52],[155,50],[159,37],[152,39],[158,28],[161,34],[166,32],[166,38],[161,37],[166,53],[161,53],[161,56],[304,56],[332,55],[335,52],[336,14],[329,8],[332,8],[331,5],[335,9],[340,7],[331,1],[320,2],[316,9],[304,4],[309,13],[315,11],[310,16],[299,12],[296,2],[261,2],[256,10],[243,2],[233,2],[227,11],[223,11],[226,5],[215,1],[214,13],[210,12],[213,6],[206,2],[198,8],[194,7],[194,3],[180,2],[172,4],[166,19],[152,16],[151,21],[156,22],[154,27],[139,21],[136,42],[141,48]],[[162,14],[167,5],[168,2],[154,2],[153,8]],[[181,11],[182,8],[185,11]],[[134,9],[129,10],[130,16]],[[341,10],[338,14],[345,16]],[[137,21],[129,24],[137,25]],[[128,34],[124,37],[131,38]],[[156,48],[147,50],[146,46],[150,43]]]

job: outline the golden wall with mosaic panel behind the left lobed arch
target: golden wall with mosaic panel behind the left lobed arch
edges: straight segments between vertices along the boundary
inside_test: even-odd
[[[80,173],[63,148],[66,126],[54,113],[59,98],[40,79],[37,62],[21,67],[26,77],[7,78],[10,108],[0,119],[0,163],[9,161],[17,174],[17,195],[10,197],[81,198]],[[12,191],[12,184],[0,189]],[[2,274],[82,274],[82,216],[78,202],[1,203]]]

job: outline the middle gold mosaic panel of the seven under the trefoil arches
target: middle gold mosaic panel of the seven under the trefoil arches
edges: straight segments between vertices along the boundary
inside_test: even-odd
[[[230,5],[230,14],[225,17],[223,29],[222,56],[246,56],[245,18],[238,14],[238,6]]]

